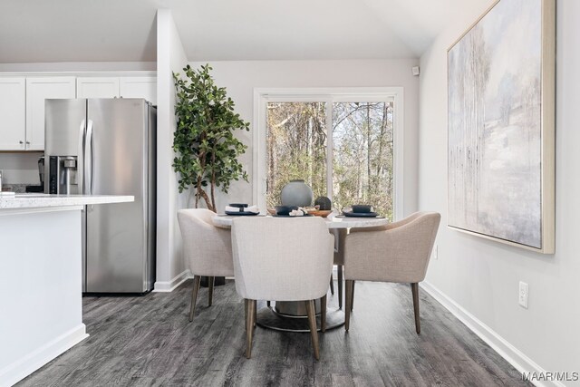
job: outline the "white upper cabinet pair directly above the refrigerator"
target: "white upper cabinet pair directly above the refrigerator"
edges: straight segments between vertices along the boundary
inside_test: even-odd
[[[144,98],[157,104],[154,76],[78,77],[77,98]]]

